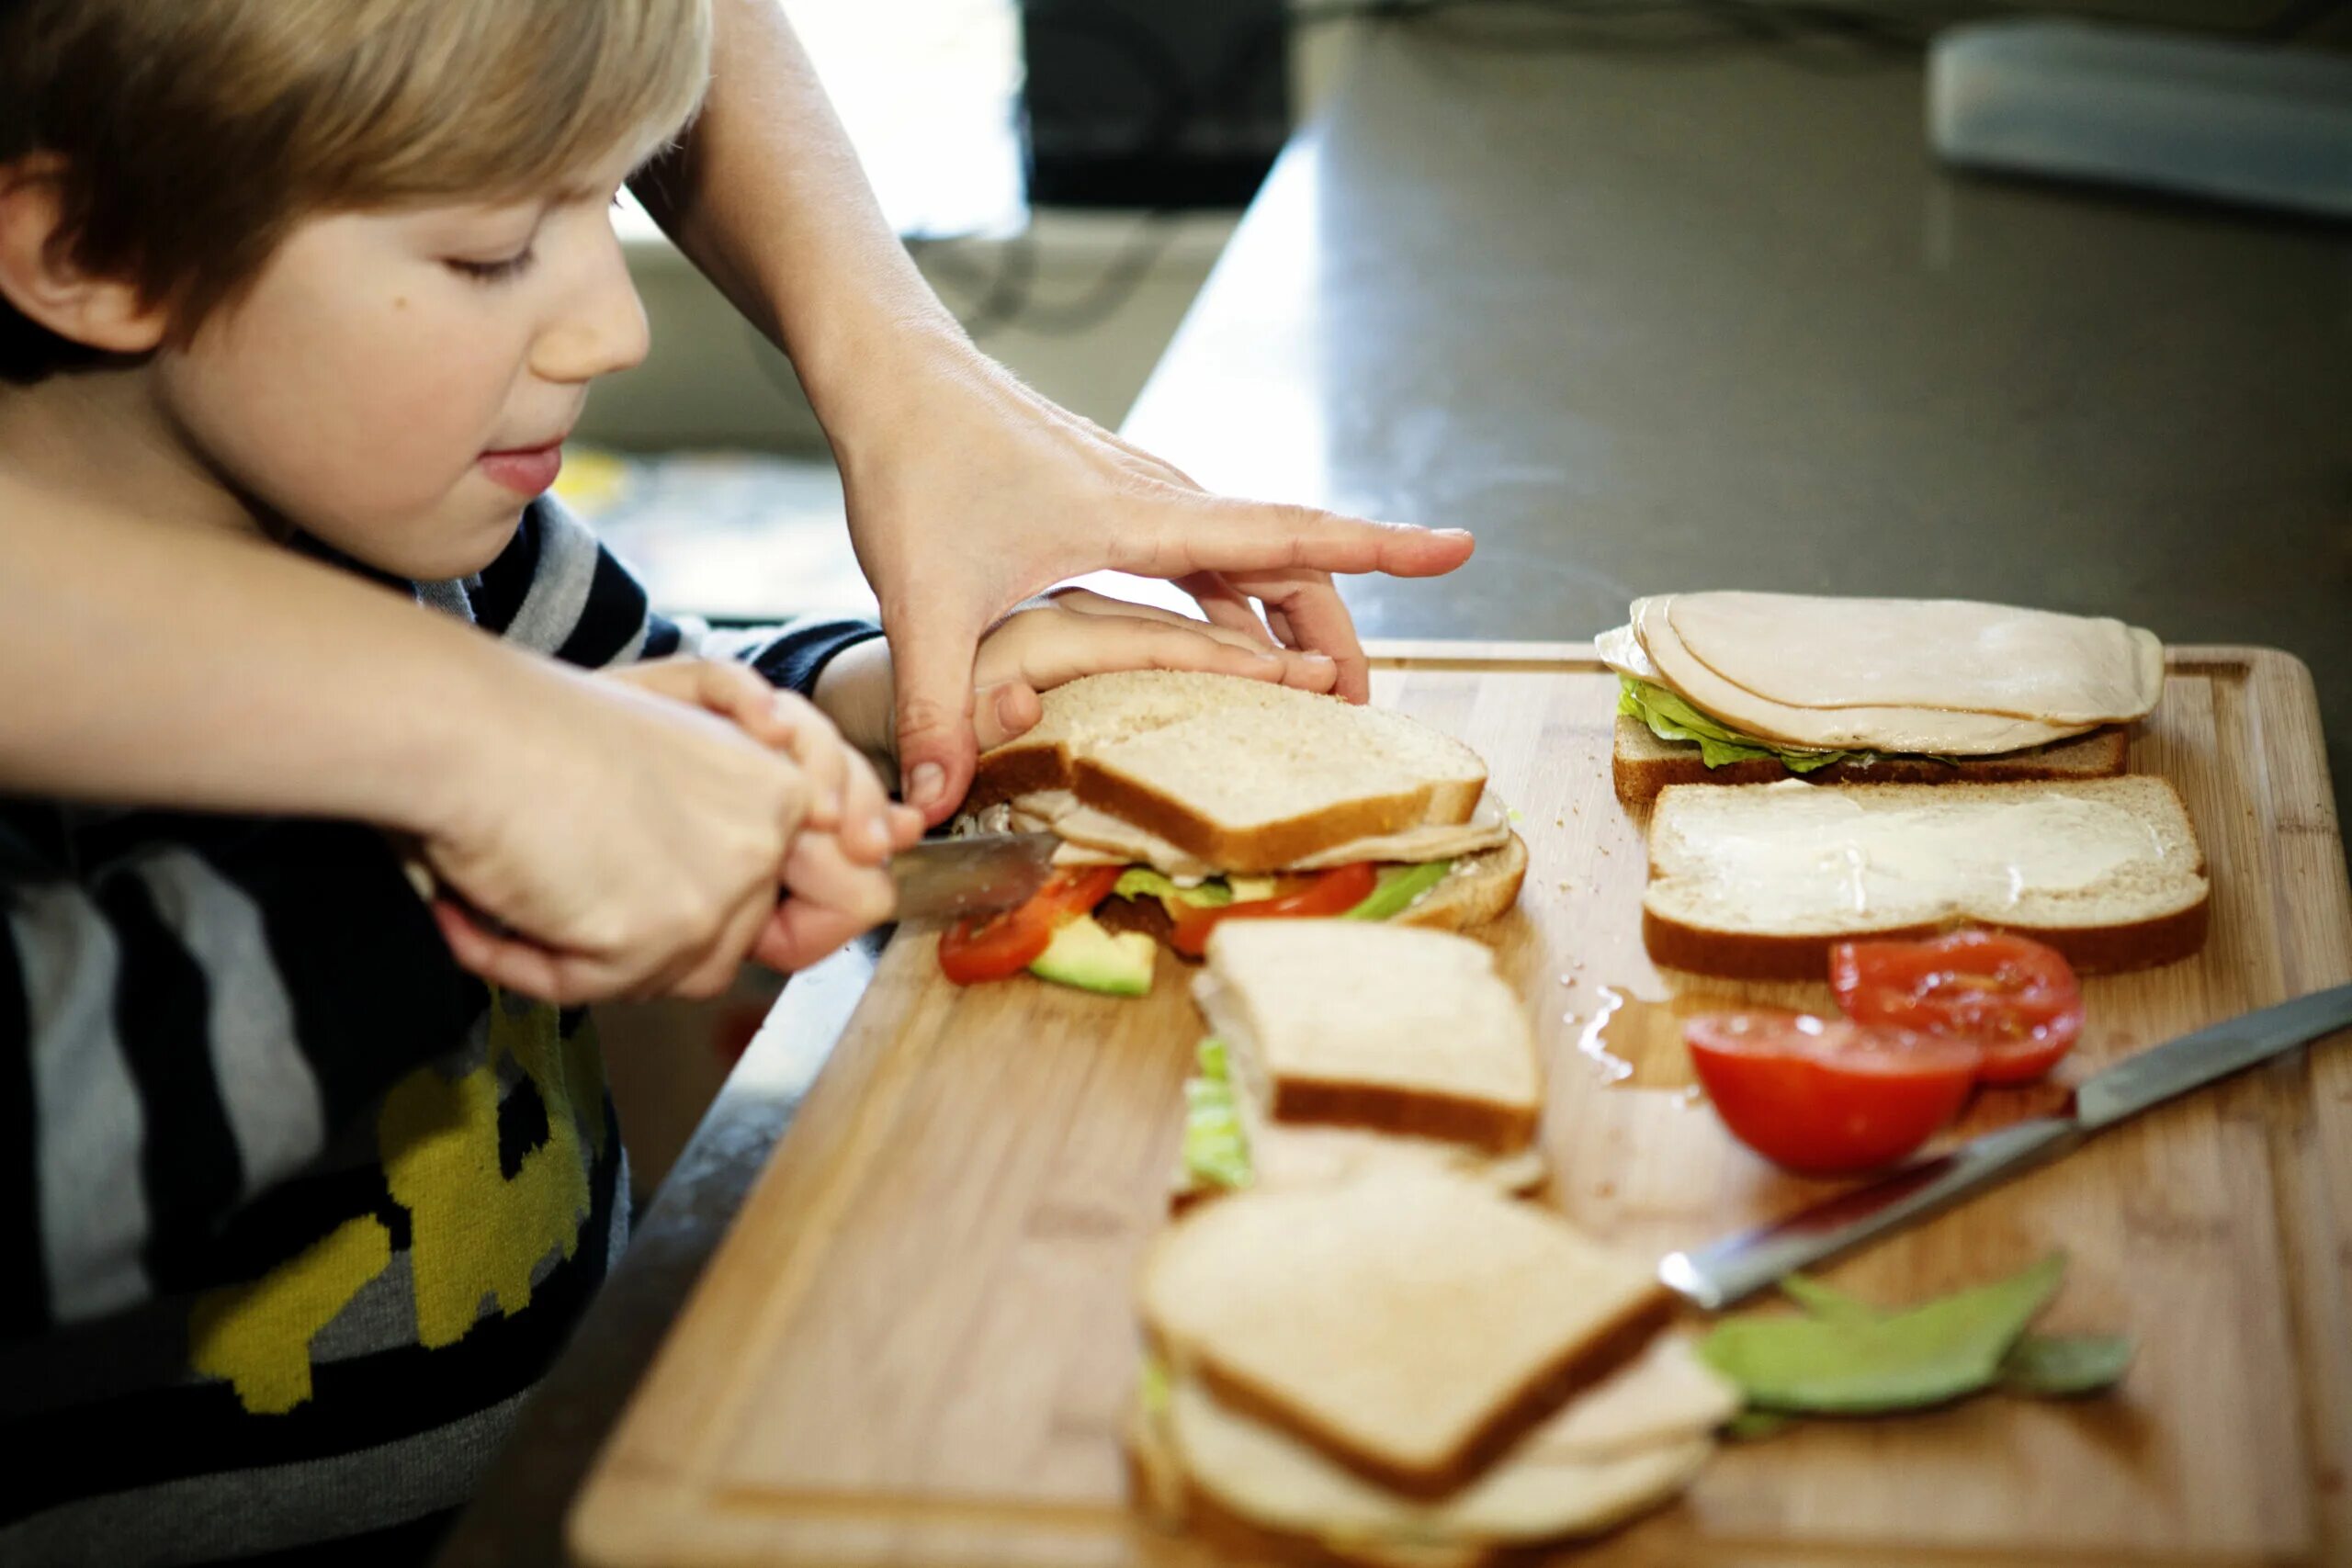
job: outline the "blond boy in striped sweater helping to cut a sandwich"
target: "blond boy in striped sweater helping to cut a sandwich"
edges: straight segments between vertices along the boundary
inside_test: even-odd
[[[724,823],[696,940],[621,976],[428,912],[383,830],[430,858],[433,811],[294,741],[268,816],[0,802],[0,1561],[421,1554],[626,1237],[593,1034],[529,997],[706,992],[887,914],[875,628],[666,621],[541,498],[642,355],[604,205],[706,52],[703,0],[0,0],[0,508],[630,665],[534,691]],[[1068,597],[981,646],[983,741],[1150,663],[1334,679]],[[487,766],[529,773],[517,736]]]

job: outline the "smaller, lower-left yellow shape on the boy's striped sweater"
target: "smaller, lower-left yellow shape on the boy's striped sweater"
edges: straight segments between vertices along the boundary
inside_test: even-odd
[[[207,1291],[188,1319],[188,1363],[238,1387],[254,1415],[310,1399],[310,1338],[393,1262],[393,1232],[362,1213],[261,1279]]]

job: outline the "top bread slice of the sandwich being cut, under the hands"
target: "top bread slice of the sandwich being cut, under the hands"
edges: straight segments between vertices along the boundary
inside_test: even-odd
[[[1089,675],[981,757],[967,809],[1070,790],[1230,872],[1416,825],[1468,823],[1486,764],[1399,712],[1232,675]]]

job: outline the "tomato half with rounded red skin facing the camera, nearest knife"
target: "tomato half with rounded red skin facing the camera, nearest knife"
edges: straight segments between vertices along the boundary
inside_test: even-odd
[[[1776,1009],[1693,1018],[1682,1039],[1724,1126],[1806,1175],[1917,1150],[1966,1103],[1983,1056],[1962,1039]]]

